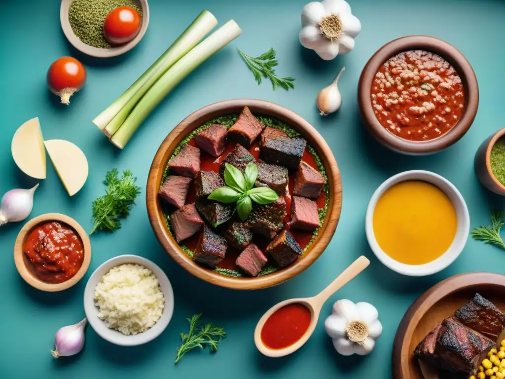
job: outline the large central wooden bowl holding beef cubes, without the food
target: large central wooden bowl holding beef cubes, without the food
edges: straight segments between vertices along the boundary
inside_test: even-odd
[[[282,270],[260,277],[229,277],[200,266],[179,247],[167,229],[158,191],[163,171],[181,140],[201,124],[226,114],[239,114],[247,106],[255,115],[273,117],[288,124],[307,139],[321,158],[328,177],[328,211],[314,243],[304,256]],[[217,286],[236,290],[256,290],[278,285],[309,267],[328,246],[337,227],[342,206],[342,182],[337,162],[324,138],[314,127],[296,113],[262,100],[237,99],[211,104],[192,113],[182,120],[161,144],[151,164],[146,186],[147,214],[153,230],[165,251],[184,269],[193,275]]]

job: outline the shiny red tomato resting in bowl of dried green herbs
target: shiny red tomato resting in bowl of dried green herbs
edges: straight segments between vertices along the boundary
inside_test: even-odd
[[[129,42],[140,31],[141,23],[140,15],[133,8],[116,8],[105,19],[105,37],[110,43],[115,45]]]

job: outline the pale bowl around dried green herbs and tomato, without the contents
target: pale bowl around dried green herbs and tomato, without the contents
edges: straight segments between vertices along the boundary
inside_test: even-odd
[[[118,55],[124,54],[131,49],[133,49],[138,42],[142,39],[147,30],[147,25],[149,25],[149,6],[147,5],[146,0],[134,0],[134,2],[140,7],[142,10],[142,24],[140,26],[140,31],[130,42],[127,42],[122,45],[113,46],[110,49],[100,49],[95,48],[94,46],[87,45],[82,42],[72,30],[72,26],[70,26],[70,21],[68,19],[68,11],[70,9],[70,5],[73,0],[62,0],[60,6],[60,22],[63,29],[63,33],[67,37],[68,41],[80,52],[87,54],[91,57],[97,58],[111,58],[116,57]]]

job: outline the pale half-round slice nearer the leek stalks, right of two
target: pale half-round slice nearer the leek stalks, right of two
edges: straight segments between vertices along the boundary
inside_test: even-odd
[[[49,139],[44,145],[68,194],[77,194],[88,177],[88,161],[82,150],[63,139]]]

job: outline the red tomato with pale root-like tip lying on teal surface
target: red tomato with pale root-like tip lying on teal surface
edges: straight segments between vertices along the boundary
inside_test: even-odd
[[[47,71],[47,86],[69,104],[70,97],[86,82],[86,69],[77,59],[61,57],[53,62]]]

